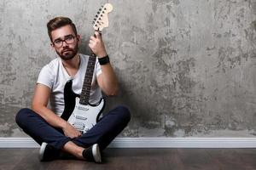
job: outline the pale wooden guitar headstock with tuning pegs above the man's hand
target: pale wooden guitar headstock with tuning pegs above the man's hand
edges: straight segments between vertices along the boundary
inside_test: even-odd
[[[96,31],[102,31],[103,28],[108,27],[108,13],[113,10],[113,6],[110,3],[106,3],[96,14],[96,18],[93,21],[93,28]]]

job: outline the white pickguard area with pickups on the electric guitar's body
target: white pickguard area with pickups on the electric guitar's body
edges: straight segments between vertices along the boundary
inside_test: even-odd
[[[81,105],[79,101],[79,97],[76,97],[76,105],[67,122],[72,124],[81,133],[86,133],[91,127],[96,125],[103,111],[105,101],[102,98],[97,105]]]

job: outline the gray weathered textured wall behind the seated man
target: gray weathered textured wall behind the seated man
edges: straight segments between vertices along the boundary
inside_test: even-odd
[[[127,137],[256,135],[255,0],[113,0],[103,36],[128,105]],[[0,1],[0,137],[21,137],[40,69],[56,54],[46,23],[73,19],[86,53],[91,20],[107,1]]]

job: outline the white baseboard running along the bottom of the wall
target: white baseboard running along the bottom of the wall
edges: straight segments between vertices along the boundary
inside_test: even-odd
[[[0,138],[0,148],[38,148],[31,138]],[[256,148],[256,138],[117,138],[110,148]]]

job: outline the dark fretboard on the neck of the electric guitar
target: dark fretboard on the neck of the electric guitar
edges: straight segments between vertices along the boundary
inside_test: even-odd
[[[82,92],[80,95],[79,103],[81,105],[89,104],[90,87],[91,87],[91,81],[94,73],[95,63],[96,63],[96,54],[92,54],[92,56],[90,56],[88,60],[87,69],[84,77],[84,84],[83,84]]]

